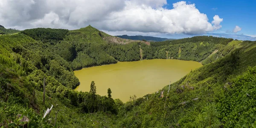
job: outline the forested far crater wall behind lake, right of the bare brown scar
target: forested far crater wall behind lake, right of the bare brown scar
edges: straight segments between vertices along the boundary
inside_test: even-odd
[[[141,47],[143,49],[143,59],[169,58],[198,62],[207,59],[208,61],[204,61],[203,64],[208,64],[218,57],[211,54],[216,52],[216,49],[221,49],[221,47],[227,45],[230,41],[233,41],[233,39],[196,36],[173,41],[153,42],[150,46],[144,44]],[[208,59],[208,57],[211,59]]]

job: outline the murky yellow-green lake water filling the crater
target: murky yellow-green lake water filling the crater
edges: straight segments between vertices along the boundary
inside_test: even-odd
[[[89,92],[91,81],[95,81],[97,94],[107,96],[111,88],[113,99],[127,102],[130,96],[154,93],[201,66],[195,61],[153,59],[89,67],[74,71],[80,81],[76,90]]]

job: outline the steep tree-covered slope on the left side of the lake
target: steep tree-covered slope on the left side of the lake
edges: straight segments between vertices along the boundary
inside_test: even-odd
[[[39,33],[41,32],[49,31],[42,29]],[[50,31],[49,36],[55,32],[55,30]],[[44,38],[48,38],[47,35],[45,36]],[[54,105],[54,111],[58,111],[58,126],[81,127],[86,126],[84,119],[76,125],[70,122],[76,122],[78,117],[81,118],[81,114],[79,114],[81,111],[84,114],[94,111],[94,109],[89,109],[90,107],[95,108],[95,104],[89,102],[93,96],[90,93],[81,92],[79,93],[80,97],[77,97],[77,92],[72,88],[76,87],[79,81],[74,76],[70,63],[52,50],[62,41],[54,38],[49,38],[50,42],[43,41],[45,40],[36,41],[24,34],[0,36],[0,100],[3,101],[0,104],[0,112],[4,113],[0,117],[0,126],[22,125],[22,123],[18,123],[20,119],[17,115],[23,114],[32,119],[29,122],[29,127],[48,125],[47,127],[51,128],[54,122],[42,119],[38,113],[42,113],[50,105]],[[42,102],[44,78],[47,83],[45,104]],[[104,111],[116,113],[113,99],[99,95],[96,97],[97,104],[98,101],[104,101],[103,105],[98,104],[104,107]],[[77,101],[76,98],[80,98],[80,100]],[[85,103],[85,100],[86,104],[80,104],[81,102]],[[91,100],[93,101],[93,99]],[[26,105],[28,108],[23,108]],[[33,108],[35,111],[29,108]],[[76,114],[73,115],[74,113]],[[100,114],[100,117],[103,115]]]

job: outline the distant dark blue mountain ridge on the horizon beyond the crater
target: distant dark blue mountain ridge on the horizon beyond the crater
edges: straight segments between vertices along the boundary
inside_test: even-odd
[[[167,40],[175,40],[175,39],[168,39],[168,38],[158,38],[158,37],[152,37],[152,36],[142,36],[142,35],[135,35],[135,36],[129,36],[129,35],[116,35],[116,37],[124,38],[124,39],[131,39],[131,40],[146,40],[149,42],[159,42],[159,41],[167,41]]]

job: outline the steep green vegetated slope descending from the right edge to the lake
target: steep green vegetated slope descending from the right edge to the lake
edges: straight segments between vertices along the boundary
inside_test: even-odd
[[[256,66],[252,54],[256,42],[239,42],[240,48],[223,58],[192,71],[170,87],[132,101],[133,108],[120,115],[125,116],[119,121],[121,127],[255,126],[251,113],[256,109],[256,67],[247,67]]]

